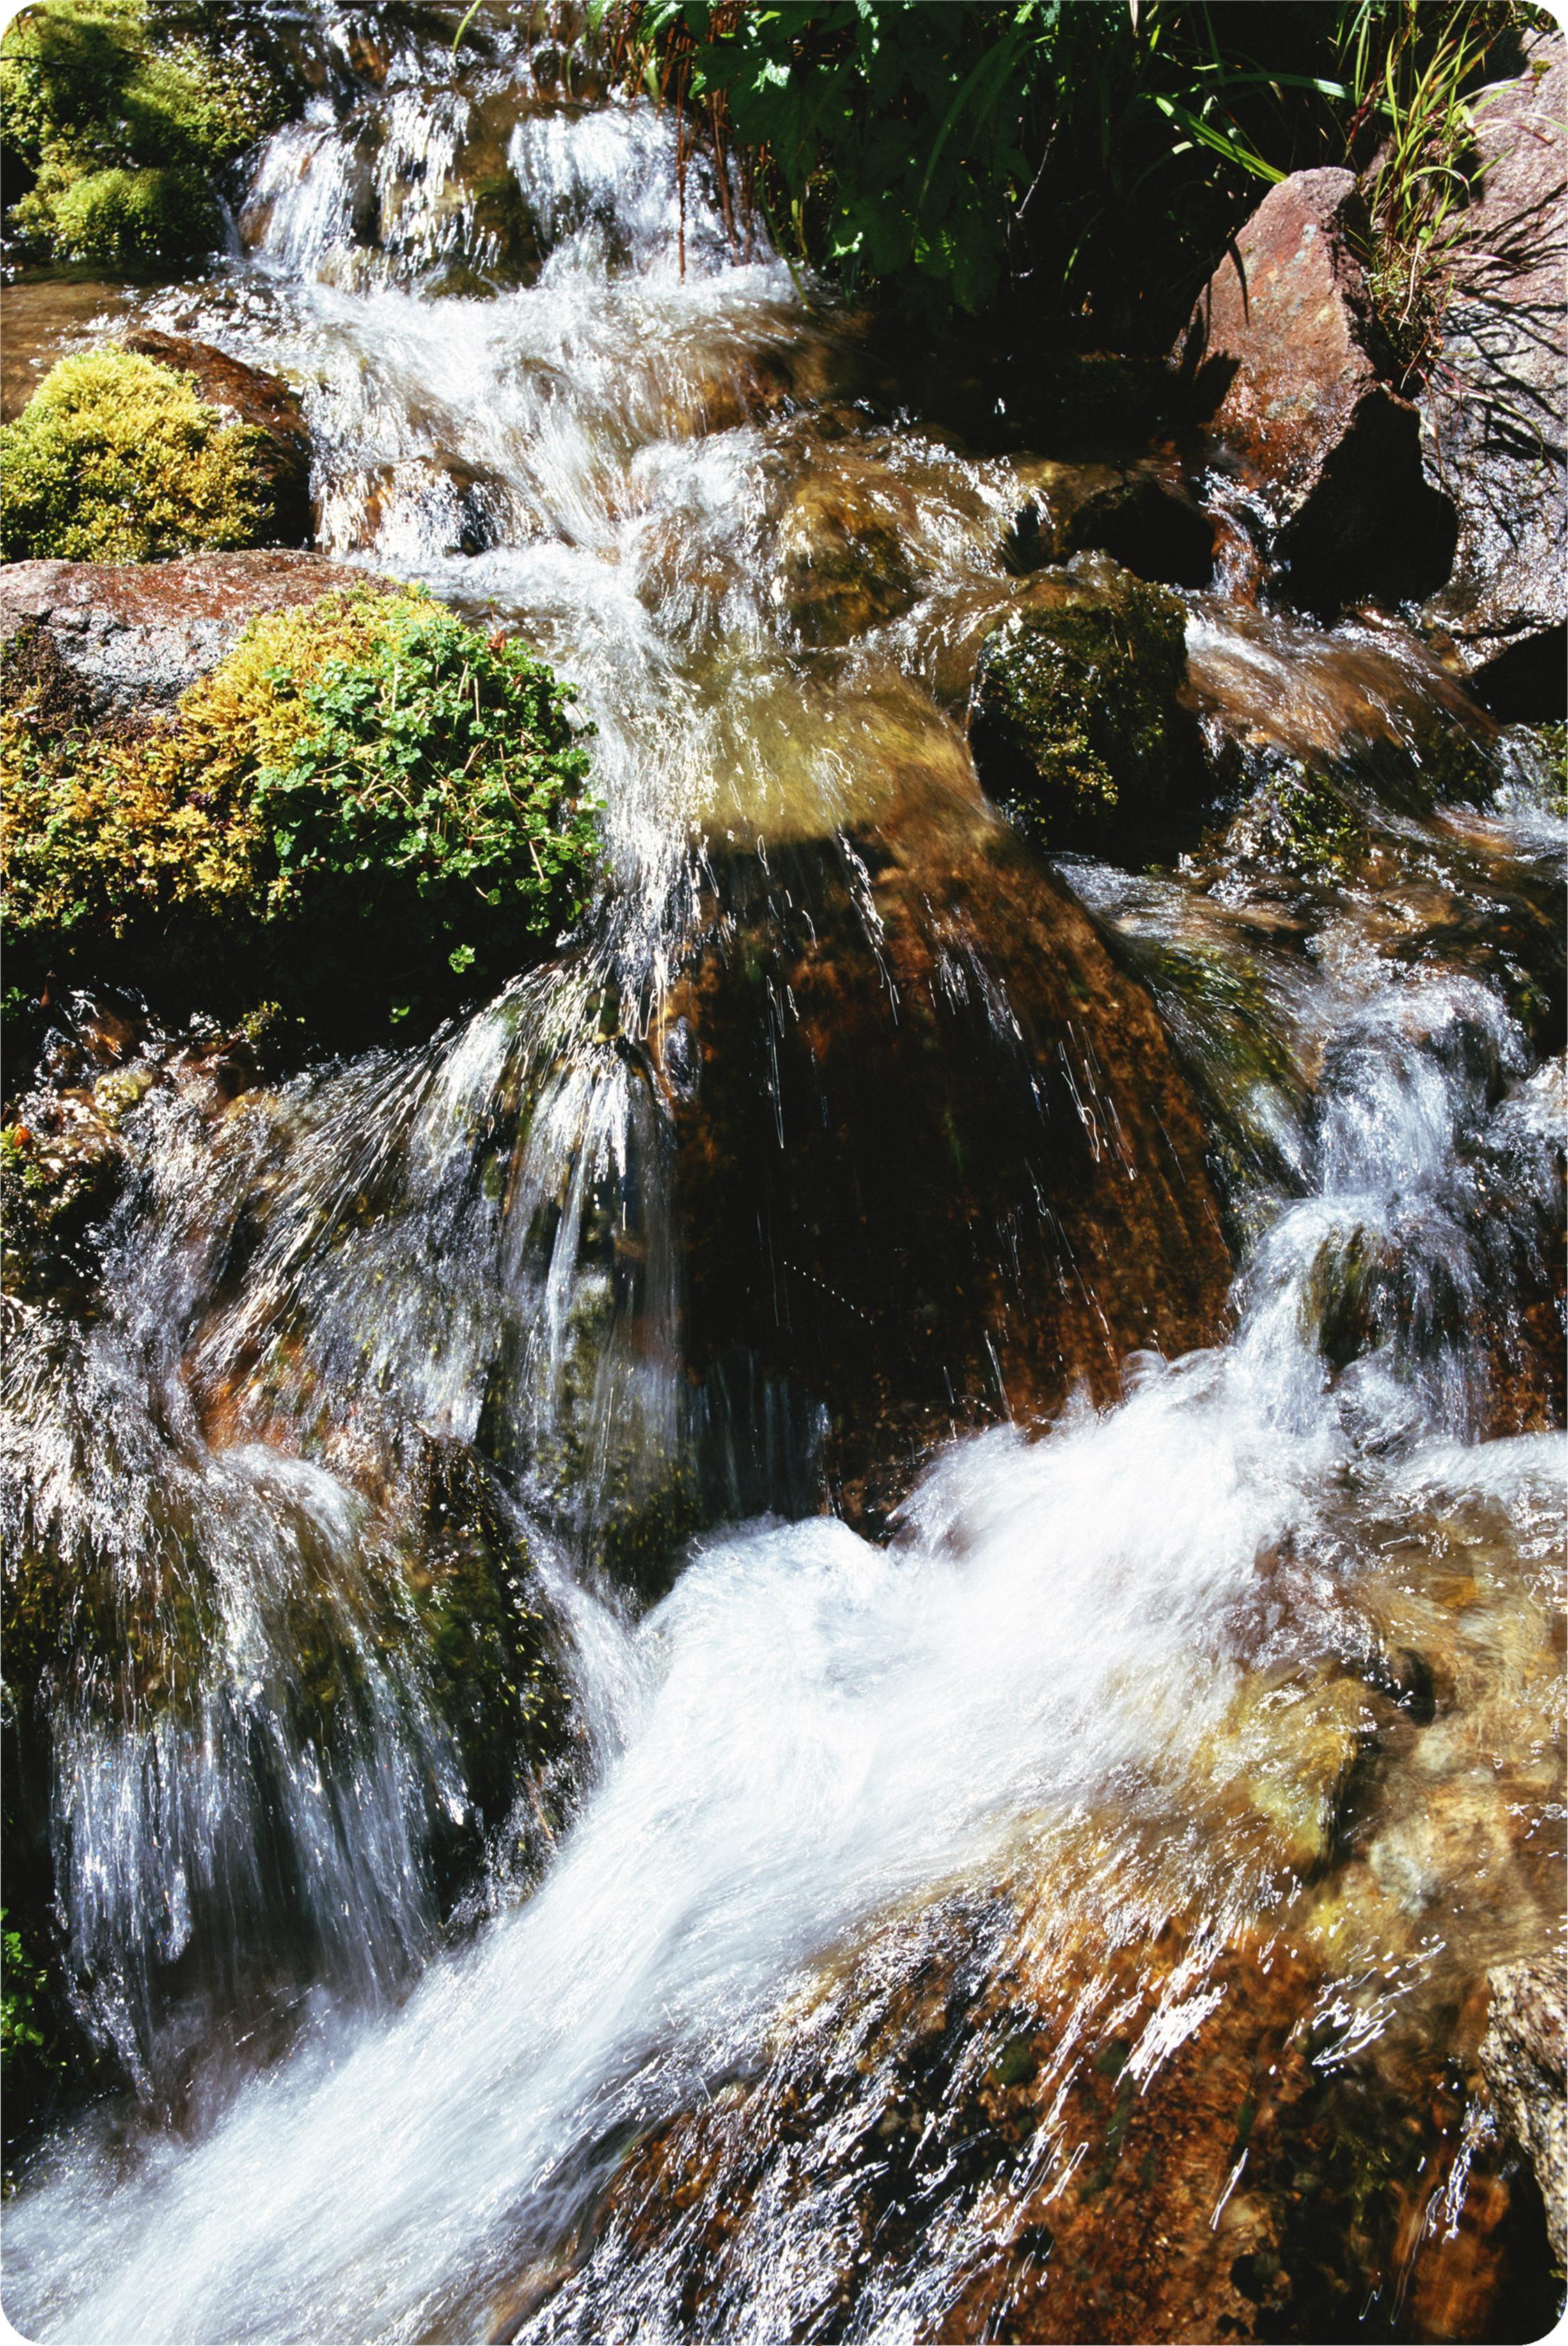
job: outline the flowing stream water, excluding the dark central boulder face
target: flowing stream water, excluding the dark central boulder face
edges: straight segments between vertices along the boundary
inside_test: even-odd
[[[12,1335],[19,1523],[80,1591],[56,1898],[136,2088],[9,2208],[28,2337],[791,2337],[824,2306],[930,2334],[976,2226],[1009,2236],[958,2172],[847,2297],[859,2250],[782,2184],[718,2313],[657,2257],[594,2294],[592,2236],[556,2294],[514,2285],[627,2144],[789,2072],[857,1964],[887,1985],[899,1959],[857,1947],[955,1884],[1056,1884],[1106,1947],[1174,1914],[1211,1947],[1317,1933],[1326,2067],[1394,2018],[1441,2064],[1469,1982],[1545,1952],[1561,1903],[1563,1462],[1521,1330],[1559,1199],[1530,955],[1563,826],[1528,760],[1493,751],[1486,812],[1401,800],[1451,701],[1406,638],[1190,596],[1214,737],[1263,772],[1354,711],[1336,788],[1383,856],[1378,887],[1282,884],[1258,819],[1164,875],[1063,866],[1204,1100],[1230,1335],[1143,1354],[1120,1405],[953,1443],[883,1544],[822,1513],[810,1379],[690,1358],[690,974],[744,931],[737,873],[779,927],[810,854],[899,1018],[861,849],[911,772],[953,856],[993,821],[932,687],[1014,594],[1019,481],[854,404],[850,321],[756,230],[746,253],[697,169],[681,202],[653,108],[561,94],[561,47],[484,28],[458,68],[343,19],[235,258],[141,310],[305,387],[326,551],[580,680],[613,891],[418,1049],[228,1100],[200,1049],[148,1042],[188,1079],[124,1124],[101,1309]],[[850,565],[824,511],[852,514]],[[960,943],[941,983],[1033,1133],[1007,976]],[[770,1016],[777,1042],[798,1013]],[[1094,1042],[1061,1067],[1080,1145],[1131,1180]],[[1033,1196],[1033,1239],[974,1234],[1000,1394]],[[707,1525],[667,1593],[664,1565],[617,1569],[650,1520],[676,1553]],[[495,1781],[430,1630],[455,1523],[538,1630],[498,1666]],[[1441,1694],[1420,1764],[1411,1654]],[[1307,1891],[1376,1722],[1404,1774],[1364,1795],[1361,1889],[1329,1912]],[[1174,1978],[1134,2079],[1221,2001]]]

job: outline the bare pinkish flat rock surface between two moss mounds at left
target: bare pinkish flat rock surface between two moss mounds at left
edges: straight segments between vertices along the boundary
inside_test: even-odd
[[[169,563],[2,563],[0,643],[31,622],[80,680],[92,713],[169,708],[256,612],[312,603],[366,572],[324,554],[190,554]],[[380,582],[385,584],[385,582]]]

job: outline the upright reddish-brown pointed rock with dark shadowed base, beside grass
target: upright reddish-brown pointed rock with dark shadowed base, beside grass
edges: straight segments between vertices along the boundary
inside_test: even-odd
[[[1432,594],[1455,544],[1418,411],[1380,375],[1359,235],[1350,171],[1291,174],[1237,230],[1181,347],[1195,411],[1275,514],[1286,591],[1324,612]]]

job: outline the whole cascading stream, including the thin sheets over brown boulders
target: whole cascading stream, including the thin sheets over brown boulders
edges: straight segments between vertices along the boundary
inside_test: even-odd
[[[148,1039],[195,1074],[101,1309],[12,1330],[127,2090],[31,2161],[5,2308],[1138,2334],[1084,2259],[1190,2215],[1188,2334],[1498,2334],[1540,2210],[1455,2079],[1559,1945],[1563,823],[1479,720],[1483,812],[1408,788],[1453,687],[1394,629],[1192,589],[1246,812],[1026,863],[948,692],[1019,472],[486,26],[331,26],[230,263],[136,307],[305,387],[326,551],[580,680],[613,889],[430,1044],[230,1100]],[[1376,884],[1282,884],[1312,758]],[[1188,2168],[1122,2158],[1239,2013]]]

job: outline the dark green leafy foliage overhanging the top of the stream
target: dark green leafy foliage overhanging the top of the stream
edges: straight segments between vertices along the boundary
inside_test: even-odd
[[[1455,14],[1474,63],[1523,12]],[[941,321],[1012,284],[1038,317],[1145,347],[1263,183],[1345,160],[1347,49],[1373,19],[1380,56],[1394,23],[1380,0],[629,0],[608,16],[631,70],[739,160],[779,242],[847,289]]]

